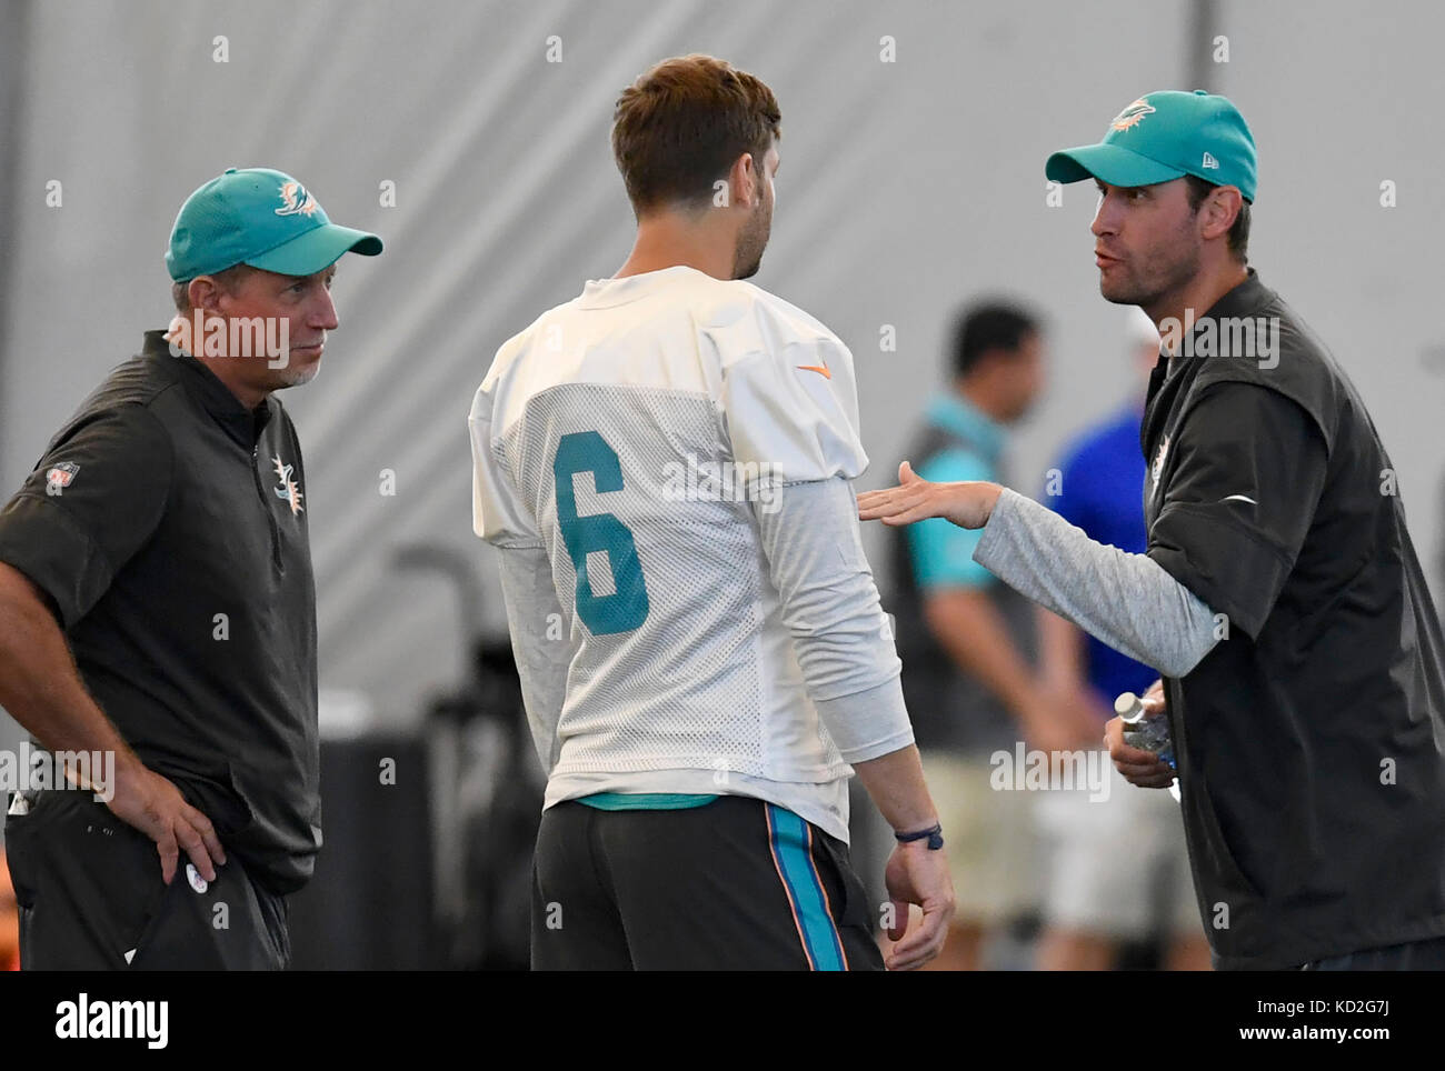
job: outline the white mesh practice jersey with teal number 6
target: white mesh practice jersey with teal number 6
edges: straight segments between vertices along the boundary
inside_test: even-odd
[[[475,531],[540,577],[507,611],[546,805],[736,792],[847,840],[754,512],[867,466],[847,346],[689,267],[588,281],[497,351],[471,437]]]

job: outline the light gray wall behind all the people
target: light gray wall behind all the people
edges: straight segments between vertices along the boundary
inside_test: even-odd
[[[1432,556],[1445,12],[1204,10],[1231,52],[1205,64],[1211,88],[1260,143],[1251,260],[1371,404]],[[306,447],[322,683],[406,720],[461,673],[461,637],[449,589],[397,573],[394,548],[432,540],[471,556],[488,624],[504,628],[494,563],[470,534],[471,394],[500,342],[623,261],[613,100],[656,59],[702,51],[780,100],[785,169],[754,281],[853,346],[874,462],[864,484],[892,476],[942,381],[955,305],[1010,292],[1052,326],[1051,391],[1016,449],[1017,482],[1036,491],[1061,442],[1133,382],[1121,310],[1097,292],[1094,196],[1072,186],[1048,208],[1043,159],[1095,140],[1142,92],[1195,88],[1182,84],[1208,48],[1195,13],[1185,0],[33,4],[22,127],[6,146],[16,186],[0,206],[14,237],[0,484],[16,486],[91,385],[163,326],[181,201],[233,165],[301,176],[334,219],[387,242],[379,260],[342,263],[322,374],[285,395]],[[228,64],[212,62],[217,35]],[[546,62],[549,35],[561,64]],[[894,64],[879,62],[883,35]],[[45,206],[51,179],[64,183],[58,209]],[[387,179],[394,208],[379,205]],[[1399,208],[1379,206],[1381,179],[1397,182]],[[897,352],[879,351],[884,323]],[[387,468],[393,498],[379,494]]]

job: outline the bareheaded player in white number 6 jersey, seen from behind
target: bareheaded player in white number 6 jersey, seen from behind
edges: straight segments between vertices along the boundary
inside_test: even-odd
[[[772,91],[711,56],[624,89],[631,254],[507,341],[473,404],[474,525],[548,771],[538,970],[912,969],[954,911],[860,541],[853,357],[740,281],[779,134]],[[879,911],[853,772],[899,837]]]

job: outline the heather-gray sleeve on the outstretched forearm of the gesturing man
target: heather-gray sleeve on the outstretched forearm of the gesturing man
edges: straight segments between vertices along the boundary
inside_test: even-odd
[[[1157,561],[1097,543],[1007,488],[974,561],[1165,677],[1183,677],[1218,642],[1214,611]]]

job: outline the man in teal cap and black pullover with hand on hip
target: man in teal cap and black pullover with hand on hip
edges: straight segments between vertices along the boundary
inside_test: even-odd
[[[347,251],[381,241],[289,175],[207,182],[171,234],[172,331],[0,511],[0,704],[65,769],[6,820],[23,969],[290,960],[321,847],[316,608],[273,391],[315,375]]]

